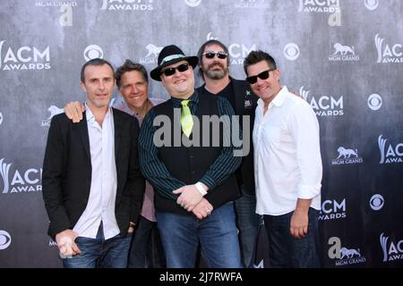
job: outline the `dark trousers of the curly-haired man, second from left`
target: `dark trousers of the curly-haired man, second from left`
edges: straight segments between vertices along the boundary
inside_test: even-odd
[[[139,217],[129,251],[129,268],[162,268],[165,267],[165,257],[157,223],[145,217]]]

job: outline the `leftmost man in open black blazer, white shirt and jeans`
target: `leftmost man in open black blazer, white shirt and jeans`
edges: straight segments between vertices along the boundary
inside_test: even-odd
[[[53,117],[47,136],[42,189],[49,236],[64,267],[125,267],[140,214],[144,179],[133,116],[109,107],[112,65],[93,59],[81,68],[84,120]]]

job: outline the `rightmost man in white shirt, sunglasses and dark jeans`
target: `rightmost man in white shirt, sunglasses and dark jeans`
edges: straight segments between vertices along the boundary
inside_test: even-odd
[[[253,51],[244,71],[260,99],[253,127],[256,213],[263,214],[273,267],[319,267],[322,159],[312,107],[279,84],[274,59]]]

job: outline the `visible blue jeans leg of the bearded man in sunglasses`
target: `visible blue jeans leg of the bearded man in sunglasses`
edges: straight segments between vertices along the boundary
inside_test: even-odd
[[[244,266],[253,266],[253,259],[258,240],[261,215],[256,214],[256,196],[241,187],[242,197],[236,199],[236,225],[239,230],[239,243]]]

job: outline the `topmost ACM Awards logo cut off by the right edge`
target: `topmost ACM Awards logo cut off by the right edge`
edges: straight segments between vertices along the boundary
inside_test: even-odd
[[[403,49],[401,44],[388,44],[379,34],[375,35],[375,46],[378,53],[376,63],[403,63]]]

